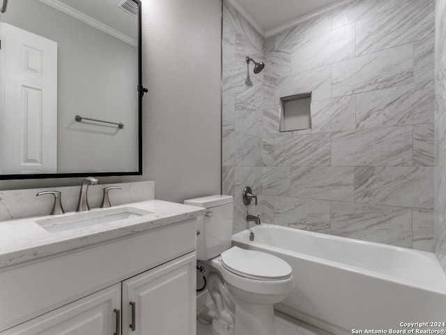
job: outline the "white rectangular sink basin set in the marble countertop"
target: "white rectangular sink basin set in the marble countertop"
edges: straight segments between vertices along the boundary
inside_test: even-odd
[[[109,223],[120,221],[126,218],[153,214],[153,211],[144,211],[134,207],[116,207],[109,209],[100,209],[98,211],[87,211],[82,213],[63,214],[55,218],[43,218],[36,220],[40,227],[48,232],[63,232],[77,228],[89,227],[100,223]]]

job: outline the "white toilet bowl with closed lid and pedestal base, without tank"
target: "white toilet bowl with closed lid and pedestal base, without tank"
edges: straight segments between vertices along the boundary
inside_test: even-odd
[[[235,304],[232,312],[234,332],[229,331],[231,326],[226,327],[226,332],[220,327],[216,331],[214,320],[213,332],[216,335],[276,335],[272,304],[288,297],[294,288],[289,264],[268,253],[237,246],[206,263],[224,280],[224,288],[209,289],[211,297],[212,291],[217,289],[220,295],[229,293],[229,299]],[[222,293],[222,289],[226,292]],[[226,312],[217,311],[217,315],[225,315]],[[216,322],[222,323],[220,320]]]

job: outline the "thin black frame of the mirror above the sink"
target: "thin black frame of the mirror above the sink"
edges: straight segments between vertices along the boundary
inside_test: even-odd
[[[141,0],[132,0],[138,6],[138,170],[133,172],[82,172],[82,173],[42,173],[42,174],[0,174],[0,180],[11,179],[47,179],[47,178],[74,178],[111,177],[111,176],[140,176],[142,174],[142,97],[148,90],[142,84],[142,37],[141,37]]]

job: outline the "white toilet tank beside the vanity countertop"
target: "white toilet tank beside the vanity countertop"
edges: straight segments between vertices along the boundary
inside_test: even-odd
[[[197,260],[209,260],[231,248],[233,198],[230,195],[185,200],[184,204],[206,208],[197,218]]]

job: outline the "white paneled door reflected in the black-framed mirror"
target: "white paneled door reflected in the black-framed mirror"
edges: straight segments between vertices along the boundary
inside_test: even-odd
[[[0,173],[57,171],[57,43],[0,22]]]

